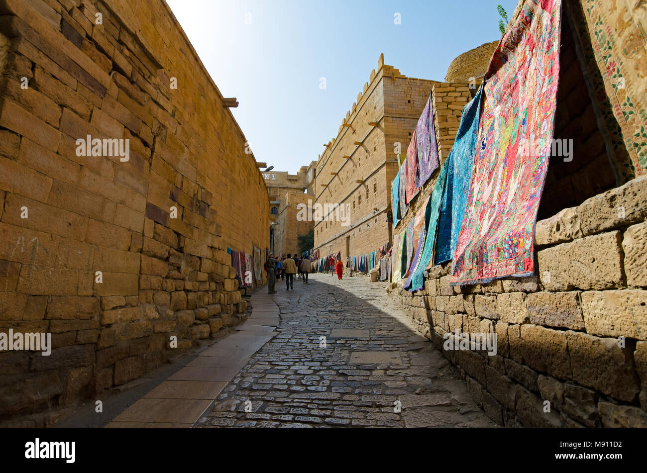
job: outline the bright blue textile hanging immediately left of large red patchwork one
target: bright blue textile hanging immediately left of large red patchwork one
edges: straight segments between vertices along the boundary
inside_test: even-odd
[[[465,204],[470,191],[472,164],[479,133],[479,115],[483,86],[463,109],[461,125],[447,160],[447,178],[441,198],[441,211],[436,237],[435,264],[441,264],[454,257],[458,233],[465,215]]]

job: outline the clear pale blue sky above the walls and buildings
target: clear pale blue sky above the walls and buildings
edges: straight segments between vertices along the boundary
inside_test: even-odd
[[[167,0],[258,162],[296,173],[336,137],[384,62],[444,80],[452,59],[501,37],[517,0]],[[400,25],[394,22],[400,14]],[[325,78],[325,89],[320,87]]]

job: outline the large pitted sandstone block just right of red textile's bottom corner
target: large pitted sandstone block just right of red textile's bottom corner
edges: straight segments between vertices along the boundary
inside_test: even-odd
[[[622,287],[621,234],[587,236],[538,253],[539,274],[549,291]]]

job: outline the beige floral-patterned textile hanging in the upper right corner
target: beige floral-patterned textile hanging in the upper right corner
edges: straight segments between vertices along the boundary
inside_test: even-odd
[[[646,6],[621,3],[564,3],[617,185],[647,172],[647,61],[632,67],[646,48],[645,21],[638,20],[641,9],[645,18]]]

